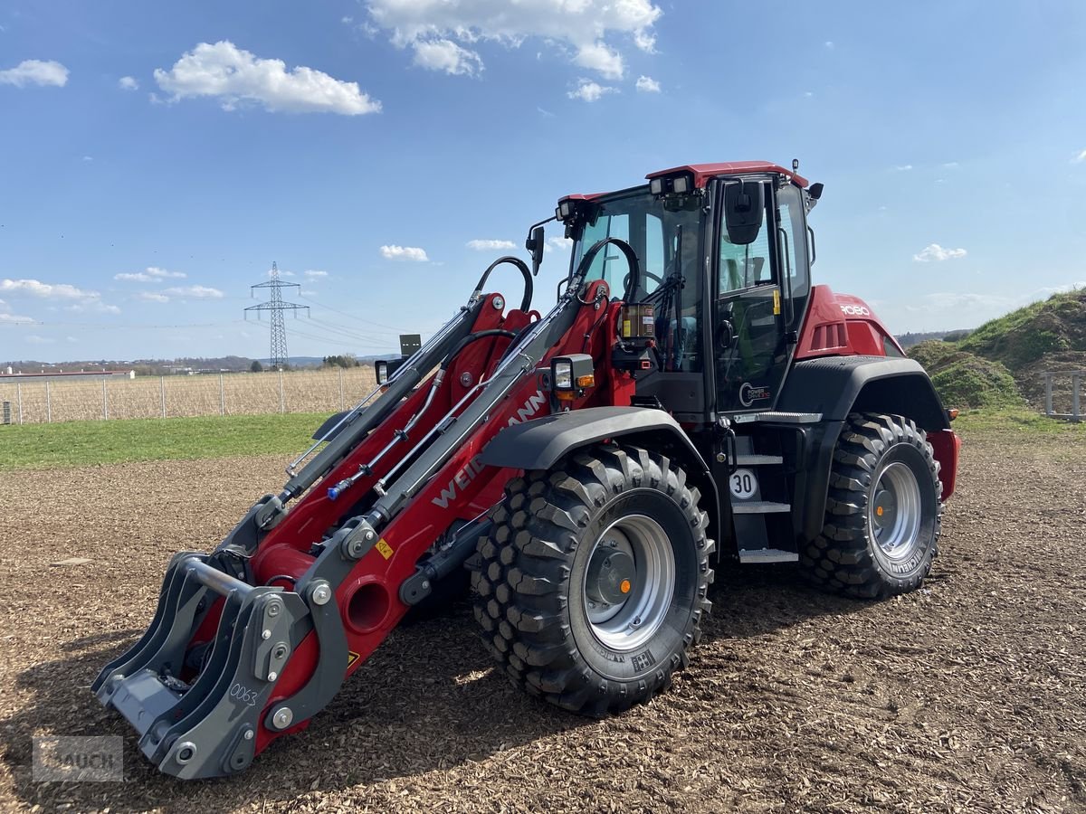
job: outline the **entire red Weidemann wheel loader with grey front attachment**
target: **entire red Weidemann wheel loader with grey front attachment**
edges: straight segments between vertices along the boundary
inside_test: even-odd
[[[169,563],[143,636],[93,684],[181,778],[304,729],[467,568],[483,639],[586,715],[666,689],[722,560],[855,597],[919,586],[960,442],[861,300],[813,285],[822,194],[763,162],[569,195],[459,311],[333,416],[211,554]],[[544,227],[572,239],[531,309]],[[516,267],[518,307],[487,293]]]

